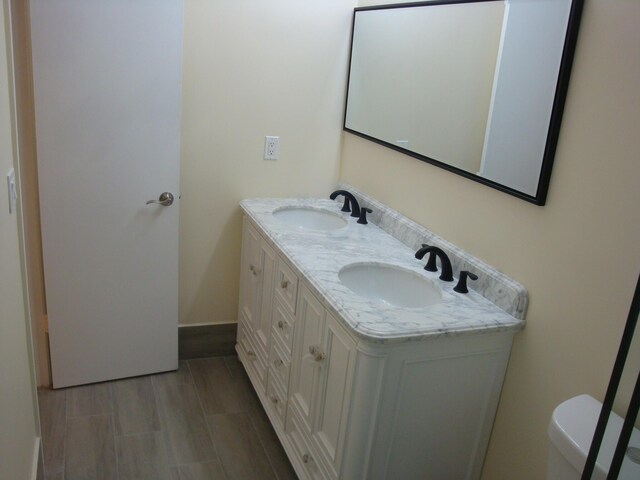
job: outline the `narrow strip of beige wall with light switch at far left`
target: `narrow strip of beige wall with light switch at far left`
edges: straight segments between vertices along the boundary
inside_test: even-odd
[[[0,6],[0,478],[35,478],[39,445],[19,214],[9,214],[5,175],[14,166],[8,2]]]

